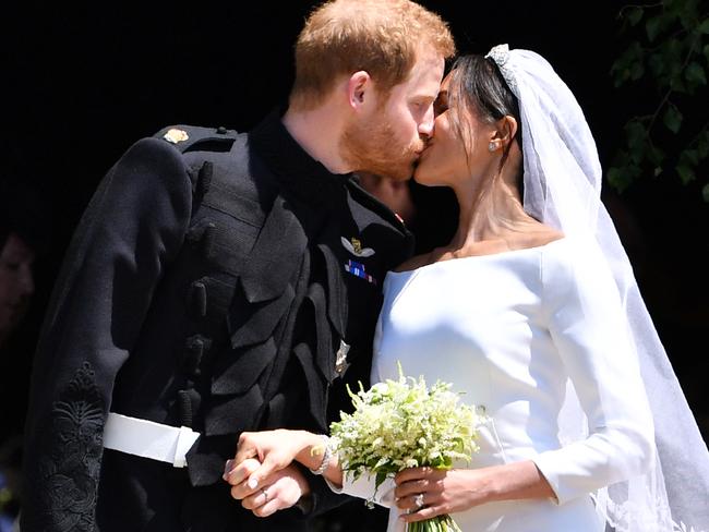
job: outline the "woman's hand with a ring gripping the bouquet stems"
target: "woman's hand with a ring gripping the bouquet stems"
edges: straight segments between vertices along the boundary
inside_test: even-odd
[[[464,511],[484,501],[484,491],[474,470],[411,468],[394,479],[396,505],[406,510],[406,522],[423,521],[444,513]]]

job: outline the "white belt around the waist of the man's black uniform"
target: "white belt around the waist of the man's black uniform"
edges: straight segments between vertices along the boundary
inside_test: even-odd
[[[168,462],[176,468],[188,464],[187,454],[200,433],[187,426],[170,426],[110,412],[104,427],[104,447],[129,455]]]

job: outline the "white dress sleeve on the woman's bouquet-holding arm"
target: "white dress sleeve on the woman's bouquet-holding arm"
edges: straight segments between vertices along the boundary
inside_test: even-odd
[[[549,328],[588,419],[588,437],[534,458],[560,504],[642,473],[653,426],[622,302],[608,267],[578,246],[542,263]]]

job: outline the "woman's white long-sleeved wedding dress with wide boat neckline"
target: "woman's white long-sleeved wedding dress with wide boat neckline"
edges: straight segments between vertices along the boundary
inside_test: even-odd
[[[428,384],[452,383],[491,420],[462,467],[533,460],[556,495],[453,513],[464,532],[604,530],[591,494],[653,460],[652,416],[624,324],[603,258],[569,238],[387,275],[372,383],[398,378],[397,362]],[[575,443],[557,437],[567,386],[587,416],[577,420],[587,437]],[[387,530],[402,531],[392,485],[374,500],[392,508]],[[372,480],[346,476],[343,492],[371,498]]]

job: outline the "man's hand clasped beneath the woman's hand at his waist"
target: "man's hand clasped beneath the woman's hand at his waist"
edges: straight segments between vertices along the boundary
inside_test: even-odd
[[[231,462],[231,460],[230,460]],[[228,463],[227,468],[233,462]],[[260,468],[259,460],[243,460],[235,469],[226,471],[224,479],[231,484],[231,496],[257,517],[268,517],[278,510],[290,508],[310,494],[310,485],[296,466],[288,466],[264,477],[257,486],[249,482],[251,473]]]

